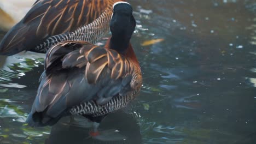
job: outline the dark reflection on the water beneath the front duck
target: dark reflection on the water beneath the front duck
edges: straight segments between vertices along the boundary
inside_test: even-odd
[[[84,117],[75,117],[73,123],[69,123],[69,118],[62,118],[57,124],[51,128],[50,136],[45,140],[45,144],[53,143],[131,143],[140,144],[142,143],[141,133],[139,125],[131,114],[124,112],[123,110],[118,110],[114,113],[110,113],[101,122],[99,129],[116,129],[119,133],[124,135],[125,140],[115,137],[114,134],[108,137],[108,140],[104,138],[104,141],[91,139],[89,136],[90,125],[88,124]],[[86,137],[86,134],[87,137]],[[117,135],[118,136],[118,135]]]

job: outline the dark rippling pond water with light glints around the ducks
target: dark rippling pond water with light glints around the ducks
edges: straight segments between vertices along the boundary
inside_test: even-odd
[[[143,88],[129,107],[102,122],[102,129],[127,136],[107,143],[256,143],[256,1],[130,2]],[[154,39],[164,41],[143,45]],[[43,56],[0,61],[0,143],[104,143],[87,139],[82,126],[24,123]]]

